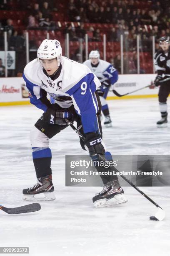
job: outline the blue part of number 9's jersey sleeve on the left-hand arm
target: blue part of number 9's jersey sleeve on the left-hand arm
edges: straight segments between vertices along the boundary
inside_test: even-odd
[[[26,77],[25,75],[23,74],[23,79],[25,80],[26,82],[26,87],[28,88],[29,92],[30,92],[30,103],[35,105],[37,108],[40,108],[42,109],[43,111],[46,111],[47,110],[47,106],[41,102],[40,99],[37,100],[37,97],[35,96],[34,94],[34,87],[35,86],[38,86],[36,84],[33,84],[32,82],[30,82]],[[40,89],[40,96],[41,96],[41,90]]]

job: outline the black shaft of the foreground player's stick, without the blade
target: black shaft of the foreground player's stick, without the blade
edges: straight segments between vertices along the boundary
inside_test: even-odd
[[[80,137],[80,139],[82,139],[82,141],[85,140],[85,137],[75,128],[75,126],[70,123],[68,120],[66,120],[67,124],[71,126],[71,128],[75,131],[75,133],[78,134],[78,136]],[[105,161],[107,161],[107,159],[105,159]],[[112,166],[112,168],[114,169],[114,171],[119,172],[114,166]],[[120,172],[119,172],[120,173]],[[142,190],[140,190],[135,184],[133,184],[133,182],[130,182],[130,180],[126,179],[126,177],[122,174],[120,174],[120,177],[122,177],[122,179],[124,179],[126,182],[128,182],[134,189],[136,189],[141,195],[143,195],[146,199],[148,199],[151,203],[153,203],[153,205],[155,205],[156,207],[159,207],[161,209],[163,209],[162,207],[160,207],[156,202],[154,202],[150,197],[148,197]]]

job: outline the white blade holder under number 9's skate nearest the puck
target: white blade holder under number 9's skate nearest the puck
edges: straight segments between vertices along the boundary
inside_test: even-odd
[[[97,200],[94,202],[94,206],[99,208],[99,207],[109,207],[112,205],[118,205],[118,204],[122,204],[128,202],[128,200],[126,199],[124,194],[119,194],[119,195],[115,195],[113,198],[107,200],[106,198]]]

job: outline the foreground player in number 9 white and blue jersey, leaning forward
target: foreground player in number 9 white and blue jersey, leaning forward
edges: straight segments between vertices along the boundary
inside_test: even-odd
[[[85,65],[62,56],[60,42],[57,40],[42,42],[37,50],[37,59],[26,65],[23,78],[29,90],[30,102],[44,111],[30,132],[37,183],[23,189],[23,198],[54,200],[49,141],[67,128],[65,119],[77,122],[77,128],[85,136],[85,142],[80,141],[80,144],[89,151],[92,159],[100,159],[101,155],[105,155],[108,160],[112,159],[102,141],[101,107],[96,93],[100,81]],[[50,103],[47,95],[54,98],[54,104]],[[104,188],[93,197],[96,207],[126,202],[117,175],[101,178]],[[44,197],[38,198],[38,194],[42,193]]]

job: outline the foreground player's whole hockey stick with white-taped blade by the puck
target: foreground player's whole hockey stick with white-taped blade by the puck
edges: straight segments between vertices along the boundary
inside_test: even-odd
[[[68,125],[70,125],[70,127],[75,131],[75,133],[77,133],[77,135],[79,136],[79,138],[82,141],[85,141],[85,137],[75,128],[75,126],[70,123],[69,120],[66,120],[66,123]],[[105,161],[107,161],[107,159],[105,157],[102,156],[102,159],[104,159]],[[107,161],[108,162],[108,161]],[[112,166],[113,170],[116,172],[119,172],[114,166]],[[120,172],[119,172],[120,173]],[[136,189],[141,195],[143,195],[146,199],[148,199],[151,203],[153,203],[153,205],[155,205],[156,207],[158,207],[158,212],[155,213],[154,216],[150,216],[150,220],[163,220],[165,218],[165,210],[163,210],[162,207],[160,207],[156,202],[154,202],[150,197],[148,197],[142,190],[140,190],[135,184],[133,184],[132,182],[130,182],[130,180],[126,179],[126,177],[122,174],[120,174],[120,177],[122,177],[122,179],[124,179],[126,182],[128,182],[134,189]]]

